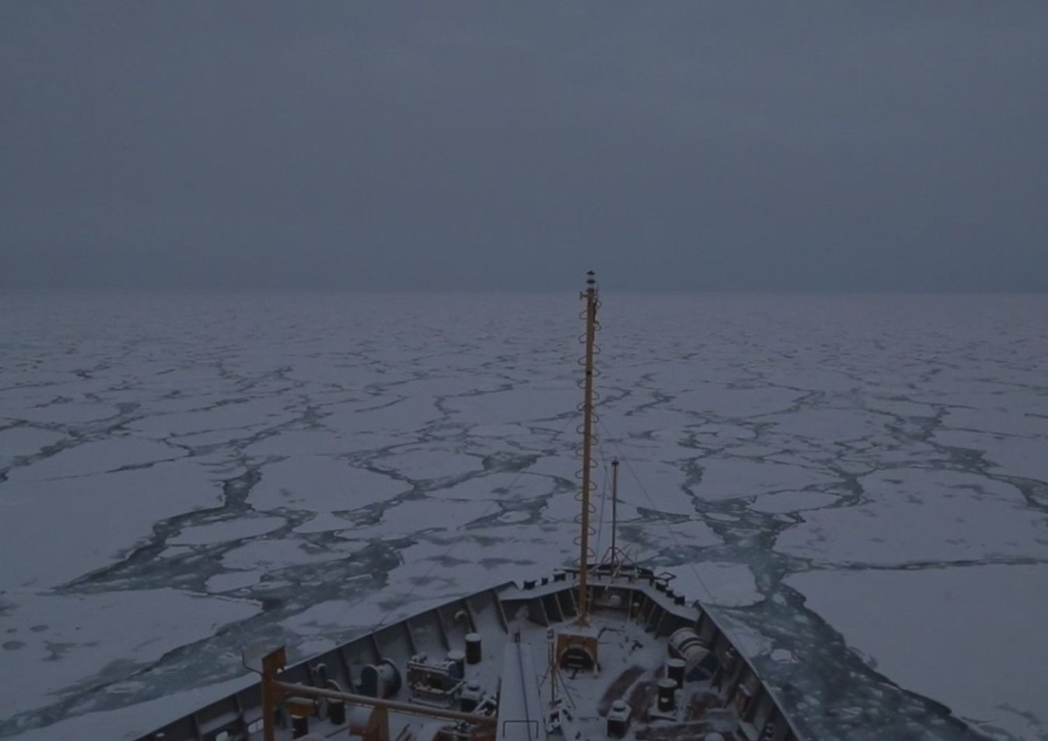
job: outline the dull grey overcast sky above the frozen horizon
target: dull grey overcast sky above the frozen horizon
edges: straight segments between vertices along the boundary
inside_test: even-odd
[[[1048,289],[1048,2],[0,4],[0,285]]]

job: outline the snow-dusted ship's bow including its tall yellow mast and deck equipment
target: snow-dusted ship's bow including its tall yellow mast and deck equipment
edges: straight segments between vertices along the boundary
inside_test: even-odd
[[[587,274],[578,562],[481,589],[306,661],[253,645],[261,681],[139,741],[800,741],[713,614],[618,547],[590,547],[599,301]]]

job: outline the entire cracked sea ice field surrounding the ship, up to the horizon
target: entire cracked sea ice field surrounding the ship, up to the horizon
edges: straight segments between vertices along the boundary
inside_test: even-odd
[[[0,737],[133,738],[253,637],[301,657],[571,563],[578,308],[0,296]],[[811,738],[1048,738],[1048,299],[602,314],[596,554],[618,456],[618,545]]]

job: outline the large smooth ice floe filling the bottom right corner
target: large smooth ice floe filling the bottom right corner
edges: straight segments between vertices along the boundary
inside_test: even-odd
[[[892,681],[987,735],[1048,737],[1048,566],[810,571],[786,581]]]

